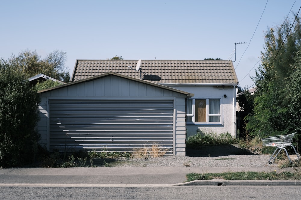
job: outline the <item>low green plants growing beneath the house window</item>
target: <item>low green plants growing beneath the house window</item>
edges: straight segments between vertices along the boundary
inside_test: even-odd
[[[186,147],[194,147],[199,145],[230,145],[236,144],[237,139],[229,133],[197,133],[186,139]]]

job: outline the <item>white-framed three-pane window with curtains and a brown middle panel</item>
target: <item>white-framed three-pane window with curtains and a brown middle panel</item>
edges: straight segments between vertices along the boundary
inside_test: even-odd
[[[187,123],[221,124],[221,99],[188,99]]]

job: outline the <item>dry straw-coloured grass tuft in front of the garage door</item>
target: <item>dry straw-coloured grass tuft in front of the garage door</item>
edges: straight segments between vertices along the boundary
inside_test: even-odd
[[[142,148],[133,149],[133,155],[147,159],[149,157],[162,157],[169,151],[169,149],[163,148],[160,145],[151,145],[151,147],[144,145]]]

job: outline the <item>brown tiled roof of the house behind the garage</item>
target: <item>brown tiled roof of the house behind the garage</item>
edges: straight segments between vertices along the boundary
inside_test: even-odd
[[[76,60],[72,81],[113,72],[154,83],[238,84],[231,60]],[[132,67],[130,67],[132,66]]]

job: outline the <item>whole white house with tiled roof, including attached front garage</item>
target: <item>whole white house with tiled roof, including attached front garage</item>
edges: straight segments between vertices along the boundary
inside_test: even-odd
[[[70,83],[39,91],[41,143],[185,155],[197,130],[236,137],[237,83],[226,60],[77,60]]]

